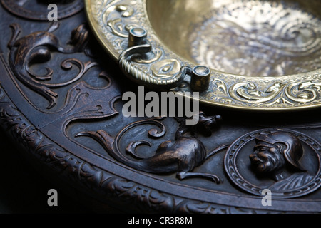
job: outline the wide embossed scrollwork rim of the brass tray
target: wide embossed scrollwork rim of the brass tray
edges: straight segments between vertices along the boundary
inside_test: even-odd
[[[86,0],[85,4],[93,33],[116,60],[127,48],[128,27],[138,26],[148,31],[147,38],[153,46],[157,60],[132,63],[135,71],[126,73],[134,81],[144,84],[145,79],[142,78],[146,75],[151,75],[157,80],[161,76],[153,73],[153,68],[168,64],[178,66],[174,72],[168,72],[170,76],[177,74],[180,66],[193,67],[192,63],[169,50],[153,31],[146,13],[146,0]],[[119,30],[116,24],[123,28]],[[212,69],[210,87],[200,93],[199,100],[209,105],[242,110],[283,111],[316,108],[321,105],[320,77],[321,69],[275,77],[238,76]],[[183,83],[175,88],[175,91],[193,92],[188,83]]]

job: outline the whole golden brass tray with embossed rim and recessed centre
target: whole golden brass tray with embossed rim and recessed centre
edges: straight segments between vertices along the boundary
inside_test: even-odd
[[[184,95],[198,91],[202,103],[243,110],[321,104],[320,1],[85,3],[96,38],[138,84]],[[133,37],[133,31],[141,34]],[[195,66],[210,69],[205,88],[197,88]]]

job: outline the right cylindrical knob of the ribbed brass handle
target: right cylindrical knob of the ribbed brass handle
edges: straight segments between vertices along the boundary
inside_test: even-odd
[[[194,91],[204,91],[210,86],[210,68],[195,66],[190,78],[190,87]]]

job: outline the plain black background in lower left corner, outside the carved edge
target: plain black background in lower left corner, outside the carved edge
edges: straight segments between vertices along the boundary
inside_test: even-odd
[[[0,214],[92,212],[35,170],[2,128],[0,145]],[[58,192],[57,207],[47,204],[50,189]]]

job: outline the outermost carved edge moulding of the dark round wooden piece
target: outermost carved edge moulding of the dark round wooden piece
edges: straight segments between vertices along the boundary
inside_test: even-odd
[[[9,130],[11,135],[16,138],[22,146],[29,151],[32,157],[36,157],[49,168],[57,172],[61,178],[71,181],[73,184],[84,188],[88,194],[97,194],[101,199],[109,200],[118,203],[133,202],[132,207],[139,207],[142,212],[169,212],[169,213],[220,213],[220,214],[235,214],[235,213],[257,213],[257,212],[275,212],[284,213],[291,210],[287,209],[269,209],[265,208],[244,208],[231,206],[229,204],[215,204],[210,202],[200,202],[198,200],[181,198],[175,195],[169,195],[166,192],[153,190],[151,187],[146,187],[135,181],[126,180],[123,177],[118,177],[111,172],[102,170],[86,160],[73,155],[73,152],[68,151],[56,144],[46,135],[37,130],[29,120],[26,120],[24,115],[19,112],[14,103],[9,99],[8,95],[0,85],[0,126]],[[222,196],[222,195],[220,195]],[[226,195],[228,196],[228,195]],[[235,196],[236,197],[236,196]],[[246,197],[249,199],[249,197]],[[260,198],[253,201],[260,203]],[[224,199],[219,200],[223,202]],[[284,202],[274,201],[275,206],[281,206]],[[315,208],[315,204],[311,200],[302,202],[288,202],[292,211],[300,212],[302,204],[310,205],[311,212],[319,212],[319,207]],[[291,206],[292,205],[292,206]]]

